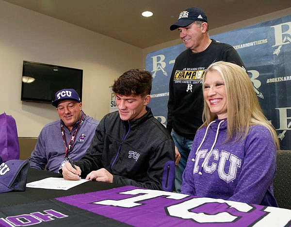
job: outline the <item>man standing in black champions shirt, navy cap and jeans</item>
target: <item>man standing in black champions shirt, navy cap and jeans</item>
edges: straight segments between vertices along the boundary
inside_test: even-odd
[[[176,58],[169,83],[167,129],[176,146],[176,191],[180,192],[182,174],[196,130],[202,125],[202,80],[208,66],[217,61],[235,63],[244,68],[242,59],[230,45],[209,37],[208,19],[203,10],[183,10],[170,30],[178,29],[185,51]]]

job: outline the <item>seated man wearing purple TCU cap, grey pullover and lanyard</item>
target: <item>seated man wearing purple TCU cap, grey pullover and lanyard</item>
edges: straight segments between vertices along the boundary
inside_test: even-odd
[[[47,124],[40,132],[29,158],[30,166],[58,172],[68,157],[80,160],[92,142],[99,121],[82,111],[82,103],[74,89],[55,94],[52,105],[60,120]]]

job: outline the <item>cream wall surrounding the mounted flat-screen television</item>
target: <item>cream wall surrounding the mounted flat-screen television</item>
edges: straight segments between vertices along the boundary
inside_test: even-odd
[[[51,104],[20,100],[23,60],[83,69],[83,110],[96,119],[109,113],[114,79],[143,65],[142,49],[0,0],[0,113],[16,119],[19,137],[59,119]]]

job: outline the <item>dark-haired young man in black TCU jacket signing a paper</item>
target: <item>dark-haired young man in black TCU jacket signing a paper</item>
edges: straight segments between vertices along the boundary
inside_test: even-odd
[[[175,146],[166,128],[146,105],[152,76],[133,69],[113,84],[118,111],[107,114],[97,126],[85,156],[65,163],[65,179],[111,182],[172,191],[175,179]]]

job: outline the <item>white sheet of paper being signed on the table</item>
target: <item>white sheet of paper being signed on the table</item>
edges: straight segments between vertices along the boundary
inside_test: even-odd
[[[79,184],[82,184],[88,180],[65,180],[64,178],[45,178],[37,181],[33,181],[26,184],[28,188],[45,188],[45,189],[57,189],[68,190]]]

